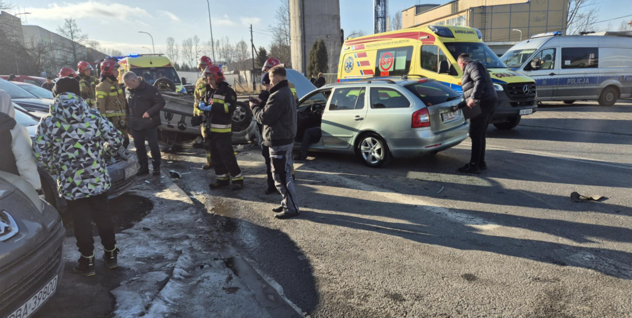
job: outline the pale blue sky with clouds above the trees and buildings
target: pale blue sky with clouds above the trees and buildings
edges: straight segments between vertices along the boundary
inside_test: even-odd
[[[250,42],[249,28],[252,24],[255,46],[270,46],[268,26],[274,22],[276,5],[282,0],[209,1],[214,40],[228,37],[231,42]],[[447,2],[449,0],[389,0],[389,15],[415,4]],[[193,35],[202,42],[210,40],[209,11],[207,3],[202,0],[20,0],[18,3],[19,8],[10,13],[30,12],[30,15],[20,15],[23,24],[39,25],[55,32],[64,18],[75,18],[88,38],[98,40],[102,47],[116,47],[124,53],[149,53],[150,50],[143,47],[152,48],[151,38],[140,31],[152,35],[156,52],[164,52],[167,37],[175,38],[178,43]],[[600,7],[599,21],[632,14],[629,10],[616,9],[629,8],[629,0],[597,0],[597,3]],[[372,0],[340,0],[341,27],[346,35],[353,30],[373,33],[372,7]],[[605,30],[610,23],[616,30],[621,21],[630,20],[632,17],[598,25]]]

